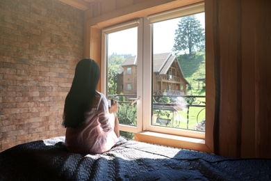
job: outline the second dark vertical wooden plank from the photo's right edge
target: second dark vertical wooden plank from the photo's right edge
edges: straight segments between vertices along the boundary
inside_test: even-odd
[[[241,157],[255,155],[255,3],[242,0],[242,145]]]

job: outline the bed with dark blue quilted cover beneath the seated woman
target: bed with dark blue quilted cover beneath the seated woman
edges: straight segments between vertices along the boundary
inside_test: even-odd
[[[120,141],[101,155],[67,152],[65,137],[0,153],[0,180],[271,180],[271,159],[237,159]]]

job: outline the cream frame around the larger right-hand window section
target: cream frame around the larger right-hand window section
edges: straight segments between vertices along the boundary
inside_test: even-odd
[[[143,77],[152,77],[152,72],[150,70],[152,70],[152,63],[151,60],[149,58],[149,56],[152,56],[152,45],[151,45],[151,40],[149,40],[146,37],[152,37],[151,33],[152,33],[152,24],[156,23],[156,22],[161,22],[167,19],[173,19],[173,18],[177,18],[177,17],[183,17],[183,16],[187,16],[187,15],[193,15],[193,14],[197,14],[197,13],[204,13],[204,3],[197,3],[197,4],[193,4],[191,6],[186,6],[183,8],[178,8],[178,9],[174,9],[174,10],[168,10],[166,12],[162,12],[162,13],[156,13],[154,15],[149,15],[147,17],[144,18],[144,27],[145,27],[145,32],[144,32],[144,37],[145,37],[145,41],[144,41],[144,50],[143,50],[143,55],[145,55],[143,57],[144,61],[144,65],[143,65]],[[145,34],[147,33],[147,34]],[[147,48],[148,47],[148,48]],[[149,55],[149,52],[151,52],[151,55]],[[150,74],[150,73],[151,74]],[[152,80],[151,79],[143,79],[143,87],[145,88],[145,99],[142,100],[143,105],[147,105],[147,107],[144,107],[143,110],[145,110],[145,112],[149,112],[151,113],[151,109],[149,109],[149,107],[151,107],[151,100],[152,100]],[[147,93],[148,92],[148,93]],[[197,139],[205,139],[205,132],[197,132],[197,131],[192,131],[192,130],[188,130],[188,129],[176,129],[176,128],[172,128],[172,127],[158,127],[156,125],[151,125],[151,116],[149,116],[149,113],[145,113],[145,117],[147,118],[147,120],[149,121],[143,121],[143,130],[148,130],[150,132],[160,132],[163,134],[174,134],[174,135],[178,135],[178,136],[188,136],[188,137],[192,137],[192,138],[197,138]]]

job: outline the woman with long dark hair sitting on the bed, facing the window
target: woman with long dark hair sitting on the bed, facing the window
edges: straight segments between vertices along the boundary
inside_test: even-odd
[[[70,152],[101,154],[120,136],[118,103],[108,108],[106,97],[97,91],[98,81],[99,65],[90,58],[79,61],[63,113],[65,145]]]

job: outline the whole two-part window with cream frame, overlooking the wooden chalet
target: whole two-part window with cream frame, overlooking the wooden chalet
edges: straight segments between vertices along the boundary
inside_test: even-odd
[[[202,102],[205,102],[205,92],[197,100],[195,92],[191,90],[194,91],[197,88],[198,93],[202,91],[194,79],[205,79],[205,72],[195,71],[197,67],[201,67],[205,71],[205,43],[199,41],[201,36],[196,38],[199,43],[196,47],[179,45],[179,49],[176,49],[178,46],[174,49],[174,36],[176,36],[176,29],[181,24],[181,19],[190,19],[192,22],[197,17],[196,22],[202,23],[202,28],[204,28],[204,22],[201,22],[204,19],[203,10],[204,5],[200,3],[197,6],[149,15],[133,22],[103,29],[104,53],[102,57],[108,79],[104,75],[102,85],[106,85],[104,92],[108,97],[113,96],[121,104],[126,105],[123,106],[123,110],[119,109],[120,115],[118,115],[122,131],[149,130],[204,139],[204,130],[195,127],[199,123],[204,127],[205,105]],[[124,38],[126,34],[128,36]],[[114,39],[115,36],[117,38]],[[136,42],[132,42],[128,37],[135,38]],[[134,47],[135,44],[136,48],[133,51],[127,49],[127,47]],[[184,48],[186,46],[188,48]],[[116,47],[119,49],[113,51],[112,49]],[[113,64],[113,62],[117,62],[113,56],[121,60]],[[189,72],[185,67],[187,63],[182,61],[189,61],[191,57],[198,58],[197,61],[201,63],[190,65],[190,68],[194,70]],[[133,70],[133,74],[131,66],[136,68],[135,71]],[[111,77],[111,67],[117,68],[117,79]],[[126,74],[124,73],[125,68]],[[191,76],[192,74],[195,75]],[[202,77],[198,77],[199,74]],[[127,82],[128,79],[129,82]],[[131,82],[135,87],[131,86]],[[121,85],[126,85],[126,88],[121,88]],[[120,87],[120,90],[117,88],[115,90],[115,87]],[[188,95],[190,93],[192,95]],[[201,102],[198,109],[192,111],[192,107],[198,102]],[[135,105],[136,107],[134,107]],[[142,110],[144,110],[144,117]],[[195,112],[195,114],[188,116],[189,112]]]

